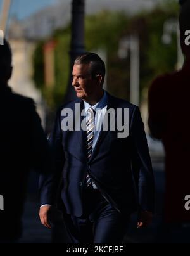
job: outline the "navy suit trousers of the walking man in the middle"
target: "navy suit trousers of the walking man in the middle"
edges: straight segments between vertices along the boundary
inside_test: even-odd
[[[130,215],[119,213],[98,190],[84,189],[82,202],[83,215],[70,215],[72,243],[122,243]]]

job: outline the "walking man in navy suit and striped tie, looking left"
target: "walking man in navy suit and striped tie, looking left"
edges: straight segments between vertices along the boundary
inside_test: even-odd
[[[60,186],[58,206],[73,243],[120,243],[132,212],[139,211],[137,227],[152,219],[154,180],[141,114],[103,90],[105,72],[97,54],[75,60],[78,99],[57,112],[49,139],[54,171],[40,179],[42,224],[51,228],[48,216]],[[115,118],[106,118],[108,112]]]

